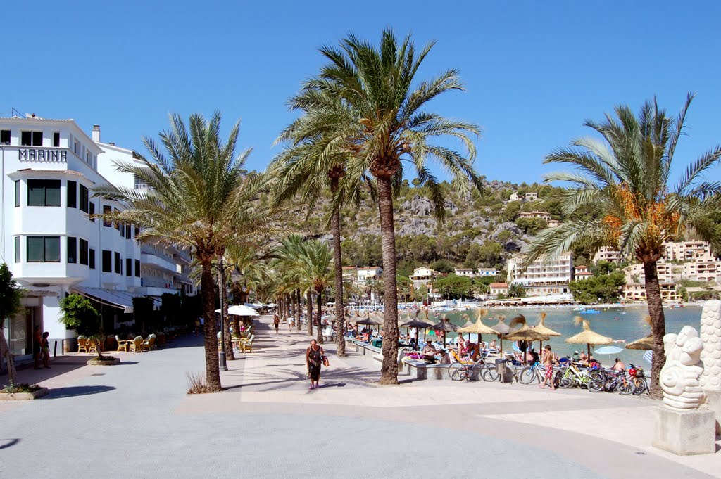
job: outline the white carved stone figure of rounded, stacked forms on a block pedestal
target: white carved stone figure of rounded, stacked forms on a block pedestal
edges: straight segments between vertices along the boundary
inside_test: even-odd
[[[684,326],[678,334],[663,336],[666,364],[661,369],[660,385],[663,403],[676,411],[698,409],[704,402],[699,376],[704,371],[701,352],[704,345],[699,333]]]

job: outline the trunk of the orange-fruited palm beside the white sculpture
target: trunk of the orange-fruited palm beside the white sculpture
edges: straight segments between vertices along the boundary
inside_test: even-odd
[[[645,261],[643,272],[646,275],[646,303],[648,314],[651,316],[651,333],[653,333],[653,360],[651,362],[651,384],[649,396],[653,399],[663,398],[658,383],[661,368],[666,362],[666,355],[663,351],[663,336],[666,333],[666,323],[663,316],[663,303],[661,291],[658,286],[658,272],[656,272],[656,261]]]

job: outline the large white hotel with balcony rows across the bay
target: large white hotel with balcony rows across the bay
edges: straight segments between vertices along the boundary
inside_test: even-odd
[[[526,288],[527,296],[557,295],[568,290],[573,272],[573,254],[570,251],[553,258],[536,259],[524,271],[523,258],[508,259],[508,284],[518,283]]]

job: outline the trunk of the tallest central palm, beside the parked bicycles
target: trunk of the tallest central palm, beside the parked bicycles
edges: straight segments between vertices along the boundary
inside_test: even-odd
[[[378,202],[383,251],[383,366],[381,384],[398,384],[398,293],[396,286],[396,233],[390,177],[378,177]]]

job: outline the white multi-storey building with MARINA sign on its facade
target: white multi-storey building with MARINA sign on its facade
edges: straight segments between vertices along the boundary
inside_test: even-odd
[[[134,230],[89,218],[122,208],[92,198],[92,188],[106,182],[97,171],[101,153],[73,120],[0,118],[0,255],[25,288],[22,313],[4,326],[15,356],[32,354],[34,326],[62,352],[75,336],[59,321],[59,301],[69,293],[96,302],[106,331],[132,312],[131,290],[141,282]]]

